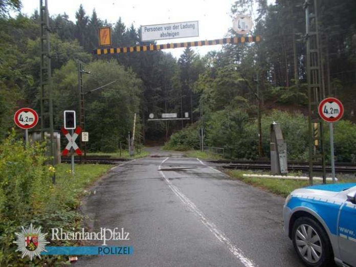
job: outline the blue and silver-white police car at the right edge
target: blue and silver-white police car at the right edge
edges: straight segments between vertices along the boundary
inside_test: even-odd
[[[309,186],[285,199],[284,232],[307,266],[356,267],[356,183]]]

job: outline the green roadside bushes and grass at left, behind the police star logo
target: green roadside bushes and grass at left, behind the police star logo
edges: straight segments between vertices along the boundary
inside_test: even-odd
[[[15,232],[30,223],[50,228],[79,229],[82,215],[76,211],[85,187],[105,172],[110,165],[77,165],[70,173],[69,164],[45,165],[42,144],[25,145],[14,131],[0,144],[0,266],[49,266],[68,263],[67,256],[21,258],[15,250]],[[56,173],[56,184],[52,175]],[[61,246],[70,241],[51,241]],[[73,243],[71,244],[73,246]]]

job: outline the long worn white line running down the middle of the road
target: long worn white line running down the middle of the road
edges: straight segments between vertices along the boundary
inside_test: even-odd
[[[169,159],[166,158],[164,161],[161,162],[160,166],[158,167],[159,172],[161,173],[162,177],[168,184],[169,188],[173,191],[173,193],[181,199],[184,205],[186,205],[193,213],[195,213],[196,216],[198,216],[199,220],[203,223],[203,225],[209,229],[210,232],[212,232],[215,237],[222,243],[224,243],[227,248],[230,250],[232,254],[236,258],[238,258],[241,263],[246,266],[246,267],[255,267],[257,266],[252,260],[247,258],[244,253],[235,246],[235,244],[220,230],[217,229],[216,225],[214,222],[212,222],[205,214],[199,210],[193,202],[190,201],[190,199],[185,196],[175,185],[173,185],[164,175],[163,171],[161,170],[162,164],[165,163]],[[199,159],[197,159],[200,161]],[[203,162],[201,162],[203,165],[205,165]],[[213,169],[213,168],[212,168]],[[224,173],[225,174],[225,173]]]

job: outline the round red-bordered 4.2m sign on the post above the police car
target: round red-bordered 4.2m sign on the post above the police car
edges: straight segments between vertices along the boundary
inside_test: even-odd
[[[341,119],[344,114],[344,106],[337,98],[325,98],[319,104],[319,115],[326,122],[336,122]]]

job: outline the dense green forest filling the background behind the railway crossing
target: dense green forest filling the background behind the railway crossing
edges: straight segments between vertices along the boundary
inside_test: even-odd
[[[305,71],[304,1],[238,0],[231,16],[254,14],[252,35],[258,44],[226,44],[201,56],[186,48],[179,59],[163,51],[95,56],[97,28],[109,25],[95,10],[80,5],[76,20],[67,14],[50,17],[54,90],[54,125],[60,129],[64,109],[78,110],[78,60],[84,91],[117,80],[85,96],[88,148],[114,151],[127,142],[133,115],[138,115],[137,140],[166,141],[174,149],[199,148],[199,128],[205,144],[225,147],[232,158],[258,157],[257,106],[262,107],[263,153],[269,154],[269,124],[282,123],[288,154],[306,159],[307,87]],[[355,161],[356,126],[356,3],[318,1],[323,86],[327,95],[343,101],[345,114],[336,123],[338,160]],[[257,9],[256,9],[257,8]],[[12,17],[9,11],[17,11]],[[39,14],[21,14],[17,0],[0,2],[0,139],[13,127],[16,108],[39,111]],[[120,14],[118,14],[120,15]],[[221,33],[223,37],[224,33]],[[139,29],[121,18],[112,26],[115,47],[138,45]],[[225,36],[236,36],[226,29]],[[273,110],[278,109],[278,110]],[[191,120],[148,122],[148,114],[189,112]],[[183,130],[181,130],[184,128]]]

